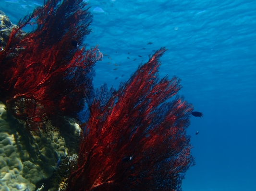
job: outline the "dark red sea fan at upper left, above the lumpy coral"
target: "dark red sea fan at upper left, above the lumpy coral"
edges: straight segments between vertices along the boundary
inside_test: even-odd
[[[0,101],[16,118],[37,126],[52,118],[75,117],[84,108],[92,67],[101,59],[97,47],[85,50],[71,43],[81,45],[91,31],[86,5],[83,0],[49,0],[12,30],[0,52]],[[27,24],[37,27],[21,37]]]

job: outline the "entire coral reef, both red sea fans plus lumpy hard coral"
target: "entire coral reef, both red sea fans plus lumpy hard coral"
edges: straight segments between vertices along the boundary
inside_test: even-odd
[[[158,77],[166,49],[119,90],[93,90],[102,54],[77,46],[90,33],[86,5],[48,0],[17,26],[1,17],[12,31],[0,49],[0,191],[181,191],[195,164],[193,106],[173,98],[180,79]],[[37,27],[24,34],[27,24]],[[72,117],[83,109],[80,129]]]

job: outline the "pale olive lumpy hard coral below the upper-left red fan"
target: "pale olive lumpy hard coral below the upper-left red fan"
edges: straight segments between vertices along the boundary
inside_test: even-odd
[[[72,133],[62,136],[69,138],[52,132],[29,140],[24,124],[9,117],[0,102],[0,191],[35,191],[38,182],[52,177],[59,157],[77,149],[80,129],[66,123]]]

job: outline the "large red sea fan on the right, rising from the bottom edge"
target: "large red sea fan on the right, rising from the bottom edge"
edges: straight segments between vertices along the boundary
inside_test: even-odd
[[[158,50],[120,89],[101,86],[88,100],[78,168],[67,191],[181,191],[194,165],[185,129],[193,110],[176,96],[180,79],[158,78]]]

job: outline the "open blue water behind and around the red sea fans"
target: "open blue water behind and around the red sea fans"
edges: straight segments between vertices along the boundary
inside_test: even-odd
[[[152,50],[165,46],[160,76],[180,77],[180,94],[203,112],[187,130],[196,166],[187,171],[183,191],[255,191],[256,1],[88,2],[94,22],[85,42],[109,55],[95,67],[95,87],[118,88]],[[17,24],[37,4],[43,0],[0,0],[0,10]]]

